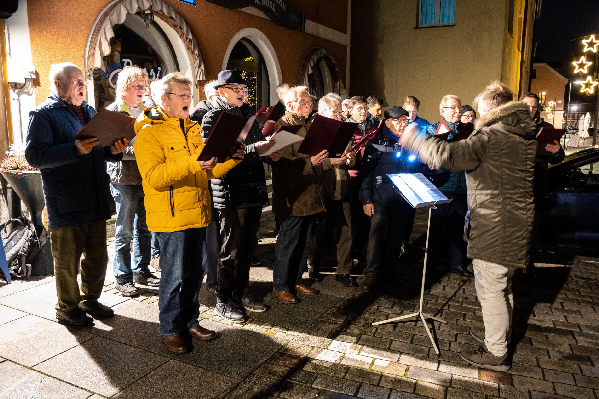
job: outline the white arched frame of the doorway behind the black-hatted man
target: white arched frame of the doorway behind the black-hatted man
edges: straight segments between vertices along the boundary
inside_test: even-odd
[[[266,83],[268,84],[268,95],[262,95],[263,103],[259,105],[262,106],[276,104],[277,101],[279,101],[279,96],[277,96],[275,88],[280,83],[282,83],[279,59],[277,58],[277,54],[274,52],[274,48],[273,45],[270,43],[270,40],[268,40],[264,33],[258,31],[258,29],[245,28],[235,33],[225,51],[225,57],[223,58],[222,63],[222,70],[224,71],[225,69],[229,69],[228,65],[229,60],[231,58],[235,59],[235,57],[239,57],[234,55],[235,53],[233,50],[240,41],[242,41],[241,44],[246,48],[246,51],[248,52],[249,56],[252,56],[252,51],[254,51],[253,54],[256,54],[256,51],[258,51],[258,53],[260,54],[259,59],[261,60],[261,62],[263,62],[262,71],[265,70],[268,77],[268,82]],[[238,47],[238,50],[239,49],[240,48]],[[243,48],[241,48],[241,50],[243,50]],[[264,85],[265,82],[266,80],[263,78],[262,85]],[[264,90],[263,93],[265,92],[266,91]]]

